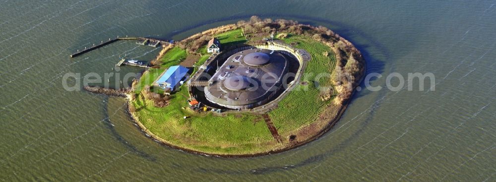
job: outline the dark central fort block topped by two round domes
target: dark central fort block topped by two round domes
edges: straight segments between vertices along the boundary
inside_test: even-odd
[[[206,99],[230,109],[261,106],[282,87],[287,58],[267,49],[249,49],[230,56],[210,78]]]

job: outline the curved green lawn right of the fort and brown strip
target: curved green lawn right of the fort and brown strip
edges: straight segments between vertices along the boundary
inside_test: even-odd
[[[312,60],[305,69],[302,81],[308,81],[308,85],[299,85],[288,94],[281,102],[279,108],[269,113],[272,121],[278,127],[279,134],[290,135],[290,133],[304,125],[310,124],[318,118],[318,114],[330,101],[321,101],[319,89],[316,88],[315,76],[320,73],[329,73],[334,68],[336,58],[334,54],[324,56],[322,53],[330,51],[330,48],[320,42],[304,36],[289,36],[284,42],[297,42],[297,48],[307,50]],[[305,76],[308,75],[308,76]],[[307,78],[307,79],[305,79]],[[318,80],[320,86],[332,86],[328,77]]]

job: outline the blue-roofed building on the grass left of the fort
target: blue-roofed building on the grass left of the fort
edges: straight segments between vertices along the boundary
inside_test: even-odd
[[[171,66],[155,81],[155,85],[174,91],[189,78],[188,71],[189,69],[185,66]]]

